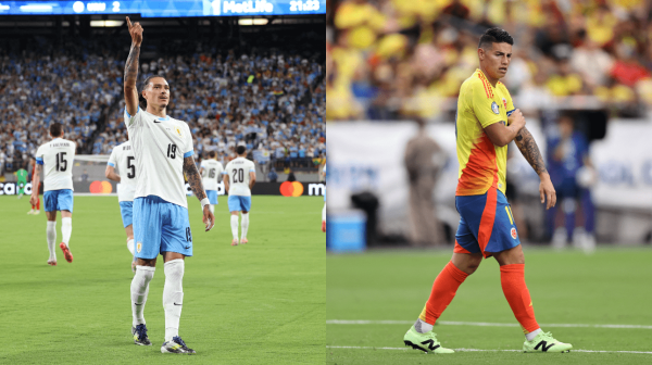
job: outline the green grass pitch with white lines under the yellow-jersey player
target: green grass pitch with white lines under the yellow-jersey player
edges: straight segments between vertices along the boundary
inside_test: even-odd
[[[543,330],[551,331],[561,341],[572,343],[575,350],[648,353],[572,350],[565,354],[467,351],[426,355],[408,350],[403,344],[403,335],[421,313],[432,281],[450,260],[451,252],[396,250],[351,255],[328,254],[327,319],[400,323],[352,325],[330,322],[326,326],[326,363],[652,363],[652,250],[649,248],[602,248],[592,255],[570,250],[554,252],[525,248],[526,281],[537,320]],[[493,259],[485,260],[478,270],[466,279],[440,320],[515,326],[435,326],[439,340],[448,348],[521,350],[523,345],[523,332],[502,293],[499,266]],[[637,325],[647,328],[559,326],[576,324]]]

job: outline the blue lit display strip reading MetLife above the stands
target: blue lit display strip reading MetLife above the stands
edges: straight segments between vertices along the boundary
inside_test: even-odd
[[[326,0],[2,1],[0,15],[140,14],[246,16],[325,14]]]

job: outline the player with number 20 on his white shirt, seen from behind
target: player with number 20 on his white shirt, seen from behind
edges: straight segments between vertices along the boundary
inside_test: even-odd
[[[238,246],[238,214],[242,212],[242,236],[240,243],[247,240],[249,229],[249,211],[251,210],[251,189],[255,184],[255,165],[247,160],[247,148],[236,147],[236,159],[226,164],[224,168],[224,190],[228,192],[228,210],[231,213],[231,246]]]

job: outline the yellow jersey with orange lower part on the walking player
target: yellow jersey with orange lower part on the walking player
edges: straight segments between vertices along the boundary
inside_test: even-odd
[[[492,187],[505,192],[507,146],[493,144],[484,128],[500,122],[506,125],[513,111],[507,88],[500,81],[493,87],[480,70],[462,84],[455,116],[456,196],[479,196]]]

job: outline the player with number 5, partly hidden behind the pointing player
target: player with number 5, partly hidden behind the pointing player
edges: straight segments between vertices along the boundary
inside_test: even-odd
[[[115,173],[115,168],[121,175]],[[136,273],[136,256],[134,256],[134,225],[133,206],[134,193],[136,192],[136,162],[131,143],[126,141],[113,148],[111,156],[106,163],[104,176],[117,184],[117,201],[120,213],[123,218],[123,226],[127,234],[127,249],[131,252],[131,270]]]

